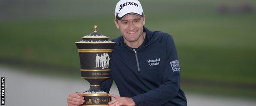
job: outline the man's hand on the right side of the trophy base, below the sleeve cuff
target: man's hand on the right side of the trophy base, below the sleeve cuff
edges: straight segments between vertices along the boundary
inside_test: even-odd
[[[130,97],[119,97],[114,94],[108,94],[108,96],[115,98],[108,103],[110,106],[135,106],[135,102]]]

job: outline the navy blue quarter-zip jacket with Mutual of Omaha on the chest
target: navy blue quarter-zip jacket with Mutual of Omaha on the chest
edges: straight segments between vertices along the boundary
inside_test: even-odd
[[[132,49],[119,36],[112,52],[110,78],[101,89],[110,91],[112,82],[121,97],[131,97],[136,106],[187,106],[180,88],[180,66],[174,40],[168,33],[149,31],[141,46]]]

